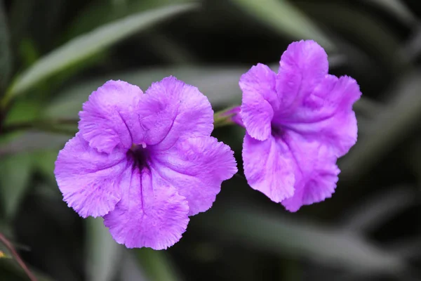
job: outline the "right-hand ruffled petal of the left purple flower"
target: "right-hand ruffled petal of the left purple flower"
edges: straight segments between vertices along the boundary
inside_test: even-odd
[[[189,216],[209,209],[222,181],[237,171],[234,152],[213,137],[188,138],[152,155],[156,171],[187,198]]]

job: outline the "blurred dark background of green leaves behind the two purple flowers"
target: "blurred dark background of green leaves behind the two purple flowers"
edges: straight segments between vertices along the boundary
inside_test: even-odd
[[[421,280],[420,17],[416,0],[1,0],[0,233],[38,280]],[[249,188],[227,126],[239,175],[167,251],[128,250],[62,201],[55,158],[105,81],[173,74],[223,109],[300,39],[363,93],[331,199],[291,214]],[[29,280],[4,243],[0,280]]]

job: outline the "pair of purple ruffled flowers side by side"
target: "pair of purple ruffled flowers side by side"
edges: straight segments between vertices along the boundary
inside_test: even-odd
[[[243,103],[232,119],[246,128],[249,185],[290,211],[330,197],[336,160],[356,142],[356,81],[328,74],[323,48],[299,41],[283,53],[278,74],[258,64],[239,85]],[[102,216],[126,247],[171,247],[237,171],[229,146],[210,136],[206,96],[174,77],[145,93],[108,81],[79,116],[79,132],[55,162],[58,186],[69,207]]]

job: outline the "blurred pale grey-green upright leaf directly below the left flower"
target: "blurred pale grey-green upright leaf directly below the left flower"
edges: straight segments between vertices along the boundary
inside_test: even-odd
[[[114,280],[121,263],[122,248],[104,226],[102,218],[87,218],[88,274],[90,281]]]

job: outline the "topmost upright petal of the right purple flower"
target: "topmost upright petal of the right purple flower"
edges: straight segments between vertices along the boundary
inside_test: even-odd
[[[281,56],[276,91],[281,108],[276,117],[295,112],[302,99],[328,74],[328,55],[312,40],[293,42]]]

